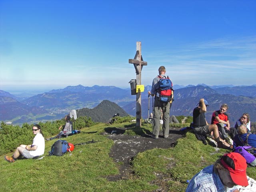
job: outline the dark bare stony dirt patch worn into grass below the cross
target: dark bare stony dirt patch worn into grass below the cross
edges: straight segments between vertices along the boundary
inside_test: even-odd
[[[139,152],[153,148],[173,147],[177,139],[184,136],[184,132],[180,131],[180,128],[172,127],[170,128],[169,137],[166,139],[163,136],[159,136],[159,139],[153,139],[150,137],[150,132],[141,136],[129,136],[123,134],[124,131],[125,129],[122,128],[114,128],[104,133],[108,134],[109,138],[114,140],[114,146],[109,154],[110,157],[115,162],[121,162],[119,168],[120,174],[108,177],[108,180],[111,181],[129,178],[129,175],[132,173],[130,163]]]

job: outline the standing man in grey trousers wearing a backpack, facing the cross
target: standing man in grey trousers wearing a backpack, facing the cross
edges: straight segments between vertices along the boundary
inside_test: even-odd
[[[172,82],[169,77],[165,75],[166,69],[164,66],[160,66],[158,69],[159,76],[155,77],[152,82],[151,91],[148,92],[152,97],[155,96],[154,99],[154,113],[153,113],[153,134],[152,138],[158,139],[159,131],[160,131],[160,116],[161,110],[163,113],[163,136],[164,138],[168,138],[169,136],[169,117],[170,117],[170,100],[172,99]],[[168,80],[170,86],[164,90],[165,92],[170,94],[162,95],[162,90],[160,89],[159,82],[160,80]],[[163,88],[164,89],[164,88]],[[161,99],[166,99],[166,101],[161,101]]]

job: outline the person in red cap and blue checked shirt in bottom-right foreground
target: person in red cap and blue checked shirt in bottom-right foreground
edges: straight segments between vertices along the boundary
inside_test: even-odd
[[[224,154],[213,165],[198,172],[186,192],[239,192],[236,185],[248,186],[246,168],[246,160],[239,153]]]

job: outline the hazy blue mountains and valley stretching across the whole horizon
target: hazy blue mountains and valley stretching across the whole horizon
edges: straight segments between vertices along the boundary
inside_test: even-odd
[[[141,93],[143,118],[148,117],[149,111],[152,112],[152,97],[150,97],[150,109],[148,109],[149,90],[151,90],[151,86],[145,86],[144,92]],[[230,114],[231,122],[239,118],[243,112],[248,112],[251,121],[256,121],[256,85],[207,86],[201,84],[186,87],[174,85],[174,90],[175,100],[170,114],[192,116],[192,110],[198,100],[204,97],[210,103],[206,115],[208,121],[210,121],[212,112],[218,110],[222,103],[229,105],[228,114]],[[18,117],[24,121],[31,119],[54,120],[67,114],[71,109],[88,108],[90,111],[103,100],[114,102],[125,112],[135,116],[136,96],[131,95],[130,89],[121,89],[115,86],[86,87],[78,85],[37,94],[20,102],[16,96],[0,90],[0,120],[14,121]],[[109,110],[108,113],[112,115],[114,112]]]

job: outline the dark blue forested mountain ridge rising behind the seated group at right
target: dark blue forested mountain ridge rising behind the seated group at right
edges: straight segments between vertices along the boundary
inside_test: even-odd
[[[256,87],[254,92],[255,90]],[[223,103],[228,104],[227,113],[229,114],[231,125],[234,126],[236,120],[245,112],[250,114],[251,121],[256,121],[256,97],[219,94],[217,90],[201,85],[175,90],[170,115],[192,116],[193,109],[198,104],[200,98],[205,98],[210,104],[206,112],[206,120],[209,124],[211,123],[212,113],[214,110],[219,110]],[[150,112],[152,112],[152,101],[153,99],[150,97]],[[128,114],[135,114],[136,103],[131,103],[122,108]],[[148,116],[148,99],[142,100],[142,116],[144,118]]]

